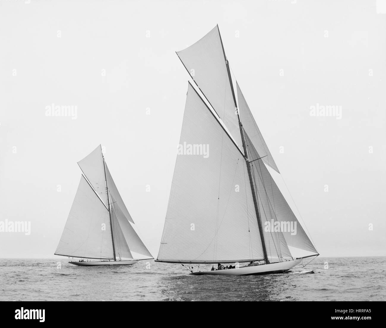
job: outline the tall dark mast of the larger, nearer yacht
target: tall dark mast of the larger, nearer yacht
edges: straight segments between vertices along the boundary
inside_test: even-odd
[[[217,25],[217,28],[218,28],[218,25]],[[218,34],[220,35],[220,30],[218,31]],[[255,211],[256,211],[256,216],[257,216],[257,225],[259,226],[261,245],[262,245],[262,249],[263,249],[263,253],[264,253],[264,260],[265,260],[266,264],[268,264],[269,260],[268,260],[268,255],[267,255],[267,248],[266,248],[264,232],[263,232],[262,223],[261,223],[261,217],[260,217],[260,212],[259,212],[259,205],[257,203],[256,189],[255,189],[255,183],[253,181],[253,176],[252,176],[251,163],[249,162],[249,158],[248,158],[247,145],[245,143],[245,137],[244,137],[244,129],[242,127],[242,123],[241,123],[241,120],[240,120],[240,113],[239,113],[239,108],[237,107],[235,91],[234,91],[233,83],[232,83],[232,77],[230,76],[229,61],[227,60],[227,57],[225,56],[225,51],[224,51],[224,46],[222,44],[221,35],[220,35],[220,41],[221,41],[221,46],[222,46],[222,50],[223,50],[223,53],[224,53],[225,64],[227,65],[227,72],[228,72],[228,77],[229,77],[230,89],[232,90],[232,96],[233,96],[233,100],[234,100],[234,103],[235,103],[237,118],[239,119],[241,141],[242,141],[242,147],[244,149],[244,155],[245,155],[244,159],[247,162],[247,171],[248,171],[249,183],[251,185],[253,205],[255,206]]]

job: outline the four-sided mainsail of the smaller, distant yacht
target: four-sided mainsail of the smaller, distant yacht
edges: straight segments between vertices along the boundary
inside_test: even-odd
[[[55,254],[114,258],[108,210],[83,176]]]

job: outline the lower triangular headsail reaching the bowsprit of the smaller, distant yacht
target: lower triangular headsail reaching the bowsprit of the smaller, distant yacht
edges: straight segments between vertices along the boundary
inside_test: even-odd
[[[123,249],[127,247],[130,255],[132,256],[132,259],[152,259],[153,257],[149,250],[146,248],[141,238],[139,238],[134,228],[131,226],[130,222],[124,215],[123,211],[120,209],[119,203],[116,202],[113,197],[111,201],[113,225],[114,227],[118,225],[120,232],[122,233],[122,235],[119,237],[119,240],[117,240],[115,244],[119,245],[119,247]],[[124,245],[124,247],[120,245]]]

